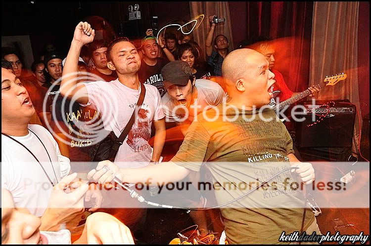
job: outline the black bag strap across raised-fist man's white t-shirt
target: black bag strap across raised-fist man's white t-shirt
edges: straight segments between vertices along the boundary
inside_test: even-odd
[[[125,129],[121,132],[120,136],[116,139],[116,141],[113,143],[112,150],[109,152],[109,158],[108,160],[112,161],[115,159],[117,152],[119,151],[120,146],[124,142],[126,136],[129,134],[129,131],[132,129],[133,124],[135,122],[135,115],[136,112],[139,112],[141,105],[143,104],[145,96],[145,87],[143,83],[140,83],[140,95],[137,102],[137,106],[134,108],[132,117],[130,118],[128,124],[125,126]],[[137,111],[138,107],[138,111]]]

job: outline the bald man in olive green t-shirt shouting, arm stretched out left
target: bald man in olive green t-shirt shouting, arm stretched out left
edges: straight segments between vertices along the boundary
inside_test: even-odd
[[[237,49],[226,56],[222,73],[231,100],[191,123],[170,162],[129,169],[104,161],[88,178],[110,182],[115,175],[128,183],[151,180],[161,184],[181,180],[206,164],[213,175],[217,203],[222,206],[229,244],[277,244],[282,232],[301,230],[304,211],[304,231],[320,234],[314,214],[304,210],[301,190],[292,189],[293,183],[313,182],[312,164],[297,160],[285,126],[266,106],[275,82],[268,61],[255,50]],[[103,166],[114,175],[105,173],[108,168]]]

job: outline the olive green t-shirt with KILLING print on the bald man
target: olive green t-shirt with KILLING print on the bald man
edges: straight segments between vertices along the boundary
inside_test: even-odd
[[[294,153],[292,139],[273,110],[262,110],[260,117],[253,111],[235,109],[238,115],[231,108],[223,114],[223,105],[200,114],[171,160],[194,171],[207,162],[219,205],[289,168],[287,155]],[[282,231],[300,231],[304,205],[299,179],[291,170],[284,171],[246,197],[221,208],[227,239],[230,244],[278,243]],[[307,209],[304,230],[313,221],[314,214]]]

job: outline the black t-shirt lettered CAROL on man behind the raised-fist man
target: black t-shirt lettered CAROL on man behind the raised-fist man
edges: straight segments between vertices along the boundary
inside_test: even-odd
[[[146,84],[151,84],[156,86],[158,91],[160,92],[161,97],[165,94],[165,87],[164,82],[161,75],[161,69],[167,64],[168,62],[159,57],[157,58],[157,63],[154,66],[149,66],[143,60],[141,60],[140,69],[138,72],[139,81]]]

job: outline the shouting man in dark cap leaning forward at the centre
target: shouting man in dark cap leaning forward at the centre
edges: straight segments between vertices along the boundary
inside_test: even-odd
[[[161,74],[167,91],[161,98],[165,121],[184,125],[183,134],[204,109],[218,106],[226,99],[226,93],[218,83],[196,80],[185,61],[166,64]]]

